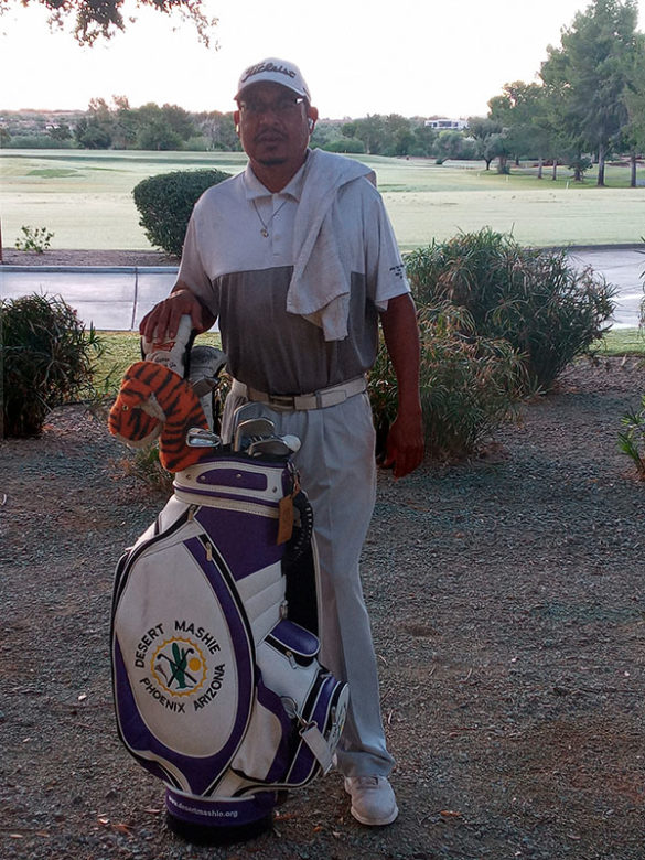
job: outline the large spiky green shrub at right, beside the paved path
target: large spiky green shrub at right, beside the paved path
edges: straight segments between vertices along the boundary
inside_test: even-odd
[[[419,248],[406,269],[418,303],[466,309],[477,335],[507,340],[525,356],[529,386],[544,390],[602,337],[614,310],[614,288],[573,269],[566,251],[522,248],[488,228]]]

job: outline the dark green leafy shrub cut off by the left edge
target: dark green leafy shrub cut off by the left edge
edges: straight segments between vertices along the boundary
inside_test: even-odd
[[[0,319],[2,433],[40,436],[51,409],[89,393],[103,343],[58,298],[2,300]]]

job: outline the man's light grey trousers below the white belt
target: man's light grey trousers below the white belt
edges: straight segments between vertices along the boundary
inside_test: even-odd
[[[223,439],[243,398],[229,395]],[[265,404],[244,409],[243,419],[266,416],[277,433],[301,442],[294,462],[314,513],[321,571],[321,663],[350,685],[350,713],[337,749],[345,776],[387,776],[394,760],[380,718],[378,675],[358,559],[376,497],[374,426],[367,394],[325,409],[277,411]]]

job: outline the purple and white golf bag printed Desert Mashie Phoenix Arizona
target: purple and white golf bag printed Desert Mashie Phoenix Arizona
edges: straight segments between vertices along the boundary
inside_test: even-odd
[[[119,734],[189,832],[266,823],[278,792],[332,766],[348,691],[318,659],[310,525],[290,455],[219,447],[118,565]]]

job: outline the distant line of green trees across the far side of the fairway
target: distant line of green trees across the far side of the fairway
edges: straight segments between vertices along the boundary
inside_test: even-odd
[[[356,154],[480,159],[499,173],[520,159],[534,160],[541,179],[559,165],[582,179],[598,164],[604,184],[609,158],[632,165],[645,153],[645,36],[636,30],[636,0],[593,0],[561,31],[558,47],[547,47],[537,80],[506,84],[488,101],[485,117],[470,117],[464,131],[438,131],[422,117],[372,115],[344,121],[321,120],[312,146]],[[25,137],[11,117],[0,117],[3,147],[82,147],[85,149],[227,150],[240,149],[233,114],[191,114],[176,105],[132,108],[123,96],[111,104],[93,99],[73,125],[51,123]]]

